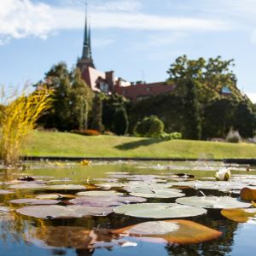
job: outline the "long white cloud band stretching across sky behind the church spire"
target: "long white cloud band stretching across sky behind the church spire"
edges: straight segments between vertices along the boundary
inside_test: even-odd
[[[229,28],[228,24],[214,19],[143,14],[139,11],[140,4],[137,0],[108,1],[102,7],[95,4],[90,11],[92,24],[96,28],[162,31],[219,31]],[[47,38],[54,32],[83,26],[84,8],[80,4],[52,6],[32,0],[0,0],[1,42],[6,38]]]

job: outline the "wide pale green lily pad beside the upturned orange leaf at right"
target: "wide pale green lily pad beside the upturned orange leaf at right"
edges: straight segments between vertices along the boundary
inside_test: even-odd
[[[192,207],[203,207],[203,208],[247,208],[251,207],[252,204],[238,201],[236,198],[228,196],[190,196],[177,198],[177,203]]]

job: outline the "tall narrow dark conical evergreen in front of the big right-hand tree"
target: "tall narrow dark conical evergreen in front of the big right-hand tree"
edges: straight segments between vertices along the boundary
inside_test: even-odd
[[[189,80],[183,97],[183,137],[186,139],[201,139],[200,107],[197,100],[195,84]]]

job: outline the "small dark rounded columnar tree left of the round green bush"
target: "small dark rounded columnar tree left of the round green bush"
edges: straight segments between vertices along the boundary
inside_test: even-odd
[[[113,118],[113,132],[117,135],[125,135],[128,131],[128,125],[125,108],[117,108]]]

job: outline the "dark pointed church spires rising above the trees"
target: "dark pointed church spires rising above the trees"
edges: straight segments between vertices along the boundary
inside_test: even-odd
[[[85,25],[84,25],[84,44],[83,44],[83,54],[79,58],[77,66],[80,68],[83,73],[86,67],[94,67],[94,63],[91,55],[90,47],[90,26],[88,27],[88,18],[87,18],[87,4],[85,4]]]

